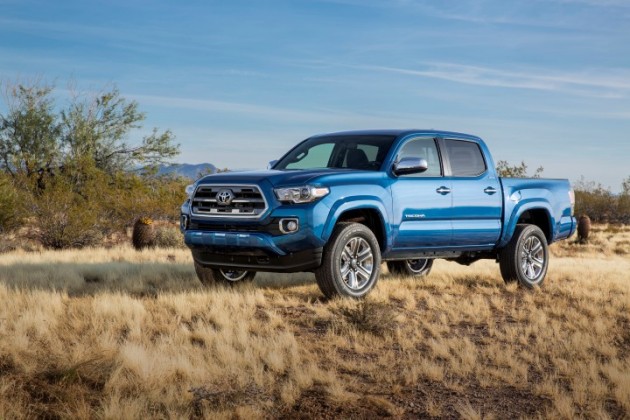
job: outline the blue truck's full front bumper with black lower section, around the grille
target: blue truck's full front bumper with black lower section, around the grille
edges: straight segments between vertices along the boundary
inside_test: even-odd
[[[319,267],[329,205],[325,200],[285,205],[277,201],[272,186],[259,187],[269,208],[256,219],[203,217],[191,212],[190,200],[182,205],[181,230],[195,261],[215,268],[283,273]],[[295,220],[299,229],[284,230],[280,222],[287,219]]]

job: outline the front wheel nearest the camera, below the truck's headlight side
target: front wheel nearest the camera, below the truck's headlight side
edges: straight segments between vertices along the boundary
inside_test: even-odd
[[[381,250],[370,229],[360,223],[340,223],[324,247],[315,278],[332,298],[362,298],[374,288],[381,269]]]

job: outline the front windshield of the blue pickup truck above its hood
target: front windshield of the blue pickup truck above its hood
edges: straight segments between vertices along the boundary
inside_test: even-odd
[[[345,168],[378,171],[395,136],[342,135],[300,143],[274,169]]]

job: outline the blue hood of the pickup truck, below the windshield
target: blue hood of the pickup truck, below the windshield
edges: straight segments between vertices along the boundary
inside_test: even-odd
[[[336,173],[349,173],[348,169],[308,169],[294,171],[243,171],[221,172],[205,176],[199,180],[200,184],[260,184],[262,181],[270,182],[274,187],[303,185],[309,181]]]

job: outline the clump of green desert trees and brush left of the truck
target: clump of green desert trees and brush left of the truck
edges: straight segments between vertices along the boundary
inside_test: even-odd
[[[130,141],[145,119],[135,101],[114,88],[60,106],[51,86],[4,87],[0,230],[23,221],[46,247],[83,247],[140,215],[177,219],[186,181],[134,170],[167,161],[179,146],[168,130]]]

